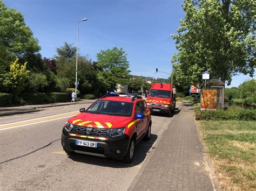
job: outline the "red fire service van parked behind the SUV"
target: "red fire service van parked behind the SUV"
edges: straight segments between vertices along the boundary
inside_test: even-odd
[[[151,112],[161,112],[171,116],[176,107],[176,88],[168,83],[153,83],[147,96]]]

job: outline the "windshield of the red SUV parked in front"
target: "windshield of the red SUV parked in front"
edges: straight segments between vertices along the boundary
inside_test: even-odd
[[[85,112],[91,114],[105,114],[114,116],[131,116],[133,103],[98,100]]]

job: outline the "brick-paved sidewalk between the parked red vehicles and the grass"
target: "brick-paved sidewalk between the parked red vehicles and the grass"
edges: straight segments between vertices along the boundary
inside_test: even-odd
[[[213,190],[191,104],[184,102],[129,190]],[[216,185],[216,186],[215,186]]]

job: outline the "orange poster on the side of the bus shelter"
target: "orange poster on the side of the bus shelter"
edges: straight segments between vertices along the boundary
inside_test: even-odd
[[[201,110],[217,108],[217,89],[201,89]]]

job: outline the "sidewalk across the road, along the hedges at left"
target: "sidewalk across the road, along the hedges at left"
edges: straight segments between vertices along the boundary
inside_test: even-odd
[[[27,114],[30,112],[40,111],[43,108],[57,107],[63,105],[73,105],[73,104],[83,104],[83,103],[93,103],[95,100],[81,100],[79,102],[64,102],[64,103],[49,103],[41,105],[24,105],[17,107],[0,107],[0,117],[8,115],[17,115],[17,114]]]

